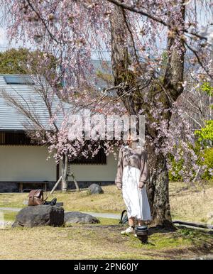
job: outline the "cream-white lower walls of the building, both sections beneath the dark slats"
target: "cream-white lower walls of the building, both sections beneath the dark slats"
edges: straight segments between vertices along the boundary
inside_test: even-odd
[[[55,160],[46,160],[47,157],[46,147],[0,146],[0,182],[55,182]],[[70,168],[77,181],[114,181],[116,160],[111,154],[107,157],[107,165],[71,165]]]

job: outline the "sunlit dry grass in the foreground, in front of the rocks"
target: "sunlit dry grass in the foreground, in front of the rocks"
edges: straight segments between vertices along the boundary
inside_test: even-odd
[[[0,259],[174,259],[207,253],[213,246],[212,236],[200,231],[190,236],[181,230],[158,231],[143,245],[133,236],[121,236],[122,229],[106,220],[99,225],[4,229]],[[204,244],[208,246],[201,252]]]

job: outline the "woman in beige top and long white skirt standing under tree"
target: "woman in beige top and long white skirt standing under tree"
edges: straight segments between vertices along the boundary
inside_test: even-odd
[[[129,137],[128,146],[119,150],[119,161],[115,183],[122,190],[129,218],[129,228],[121,234],[133,234],[135,219],[141,226],[143,221],[151,220],[151,210],[146,193],[148,179],[147,153],[138,142]]]

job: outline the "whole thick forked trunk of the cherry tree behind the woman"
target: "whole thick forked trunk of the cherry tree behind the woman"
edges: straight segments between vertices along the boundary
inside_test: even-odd
[[[184,3],[183,0],[182,3]],[[179,11],[177,12],[179,13],[180,20],[178,23],[184,27],[184,6],[180,6]],[[173,22],[173,16],[171,16],[170,20],[171,23],[173,23],[173,26],[175,26],[175,23],[177,22]],[[129,28],[126,28],[125,11],[119,6],[114,6],[114,11],[111,14],[111,62],[114,72],[114,82],[115,85],[118,85],[121,82],[127,82],[127,90],[133,87],[133,83],[137,83],[137,79],[133,79],[133,75],[131,75],[131,82],[129,82],[129,75],[131,72],[129,72],[128,67],[132,59],[128,48],[124,46],[124,41],[128,40],[129,35]],[[151,103],[153,103],[155,92],[160,94],[159,100],[163,103],[163,111],[171,106],[171,99],[175,101],[182,93],[185,49],[182,46],[182,40],[178,38],[177,44],[177,38],[173,37],[174,36],[170,37],[170,35],[168,35],[168,50],[170,52],[168,52],[168,66],[162,82],[163,87],[155,87],[155,84],[152,84],[148,94],[148,100],[150,100]],[[126,89],[119,90],[119,96],[122,95],[122,92],[124,94]],[[153,131],[150,126],[153,121],[155,121],[149,114],[152,104],[144,104],[143,94],[140,94],[140,92],[138,92],[135,97],[122,97],[122,101],[129,111],[129,114],[137,114],[140,109],[145,109],[148,116],[146,121],[146,134],[152,139],[155,139],[155,137],[158,136],[158,132]],[[168,121],[169,125],[171,117],[170,111],[165,111],[163,116],[164,119]],[[158,119],[155,122],[158,123]],[[159,140],[155,146],[160,148],[160,143],[162,143],[162,140]],[[162,153],[156,154],[155,147],[151,145],[151,143],[147,143],[147,146],[148,166],[150,170],[147,188],[151,204],[153,225],[174,228],[170,216],[169,180],[166,158]]]

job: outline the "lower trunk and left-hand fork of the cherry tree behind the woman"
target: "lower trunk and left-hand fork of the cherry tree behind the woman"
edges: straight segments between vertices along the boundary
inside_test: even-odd
[[[124,47],[124,40],[128,37],[128,30],[125,32],[125,18],[124,11],[121,8],[115,7],[114,14],[111,16],[111,62],[114,72],[115,84],[124,81],[124,75],[129,75],[128,66],[130,63],[127,48]],[[131,86],[129,86],[131,88]],[[128,86],[127,86],[128,89]],[[126,90],[119,91],[126,92]],[[150,94],[153,97],[153,94]],[[168,99],[165,94],[162,94],[163,102],[168,107]],[[126,109],[129,114],[136,114],[140,108],[145,108],[148,112],[148,105],[143,106],[143,97],[124,97],[123,99]],[[131,103],[129,103],[131,102]],[[170,119],[170,117],[168,117]],[[147,121],[151,124],[152,121]],[[151,128],[146,131],[152,137],[155,132]],[[148,188],[148,198],[151,204],[151,212],[153,217],[153,224],[156,226],[174,227],[170,217],[170,204],[168,192],[168,170],[166,167],[166,159],[163,155],[156,155],[155,148],[148,146],[148,166],[150,170]]]

